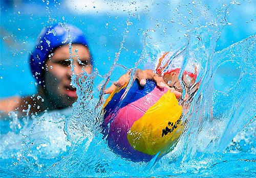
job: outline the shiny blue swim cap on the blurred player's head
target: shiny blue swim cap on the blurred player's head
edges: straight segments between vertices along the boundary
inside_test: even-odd
[[[31,71],[40,86],[44,85],[42,71],[49,55],[56,48],[69,44],[69,42],[88,47],[87,39],[82,31],[71,24],[53,24],[42,29],[30,56]]]

